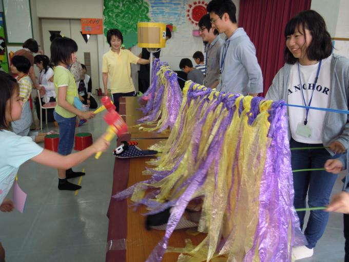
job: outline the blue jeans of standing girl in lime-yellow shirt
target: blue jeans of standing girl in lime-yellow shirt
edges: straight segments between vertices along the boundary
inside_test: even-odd
[[[60,143],[58,144],[58,153],[61,155],[69,155],[74,146],[75,135],[75,119],[76,116],[65,118],[56,111],[53,112],[54,120],[57,121],[60,127]]]

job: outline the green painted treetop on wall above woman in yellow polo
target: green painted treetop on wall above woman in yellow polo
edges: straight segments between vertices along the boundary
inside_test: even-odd
[[[125,48],[137,44],[137,23],[149,22],[149,4],[143,0],[104,0],[104,34],[112,28],[124,36]]]

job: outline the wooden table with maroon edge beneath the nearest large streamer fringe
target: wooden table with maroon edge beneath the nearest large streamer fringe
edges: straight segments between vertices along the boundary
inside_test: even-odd
[[[137,142],[141,149],[146,149],[159,141],[160,139],[144,139],[138,140]],[[130,159],[115,158],[112,194],[123,190],[122,187],[126,188],[137,182],[148,179],[149,176],[142,175],[142,171],[145,169],[145,162],[150,158],[151,157]],[[165,231],[162,230],[153,229],[147,231],[144,226],[145,216],[141,215],[146,212],[145,208],[142,207],[138,211],[133,211],[132,208],[127,208],[129,205],[131,205],[129,199],[127,199],[127,201],[117,201],[111,198],[108,210],[108,241],[113,239],[117,240],[116,243],[119,244],[126,243],[126,250],[119,249],[107,251],[106,261],[108,262],[144,262],[152,249],[165,234]],[[203,233],[193,236],[186,232],[186,229],[175,230],[169,239],[169,246],[184,247],[184,240],[187,238],[190,238],[194,245],[198,245],[205,237]],[[163,261],[177,261],[178,255],[178,253],[166,253]]]

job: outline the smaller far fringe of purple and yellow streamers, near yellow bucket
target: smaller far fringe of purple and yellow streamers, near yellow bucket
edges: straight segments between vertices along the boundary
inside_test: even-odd
[[[175,125],[182,103],[182,92],[178,84],[177,73],[166,63],[155,59],[151,71],[151,86],[140,98],[147,99],[145,107],[141,108],[146,116],[138,119],[136,127],[140,130],[160,133]],[[145,127],[145,126],[150,126]]]

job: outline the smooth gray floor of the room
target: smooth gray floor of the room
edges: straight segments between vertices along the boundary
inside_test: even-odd
[[[106,124],[96,115],[76,132],[91,132],[99,137]],[[56,130],[49,127],[49,130]],[[110,147],[110,152],[113,147]],[[74,170],[86,169],[82,189],[74,192],[57,189],[56,170],[29,161],[21,166],[18,183],[28,194],[25,211],[0,213],[0,238],[7,262],[104,261],[112,187],[114,157],[104,153],[99,160],[90,157]],[[340,177],[343,177],[341,175]],[[333,192],[342,187],[340,177]],[[77,183],[79,178],[71,179]],[[12,193],[10,192],[10,196]],[[312,258],[299,261],[343,261],[342,215],[332,213],[327,229]],[[279,261],[277,261],[279,262]]]

